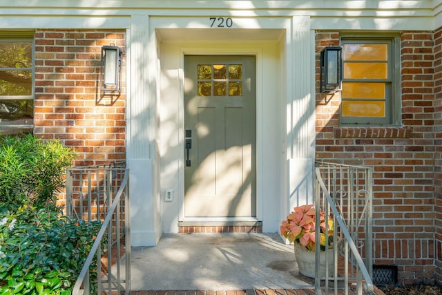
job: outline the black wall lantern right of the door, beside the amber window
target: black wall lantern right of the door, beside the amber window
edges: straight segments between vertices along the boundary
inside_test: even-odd
[[[341,50],[340,46],[327,46],[320,52],[320,92],[328,93],[340,89],[342,80]]]

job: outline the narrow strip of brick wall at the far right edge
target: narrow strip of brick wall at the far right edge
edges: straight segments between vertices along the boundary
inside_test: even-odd
[[[434,133],[435,146],[435,225],[436,280],[442,282],[442,28],[434,34]]]

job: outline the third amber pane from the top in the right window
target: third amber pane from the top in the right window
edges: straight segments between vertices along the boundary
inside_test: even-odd
[[[343,99],[385,99],[385,83],[343,82]]]

